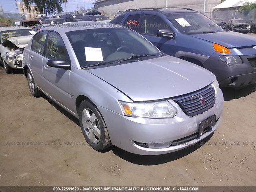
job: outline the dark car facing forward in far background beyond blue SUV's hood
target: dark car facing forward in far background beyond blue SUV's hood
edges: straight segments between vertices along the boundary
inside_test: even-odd
[[[230,31],[239,32],[239,33],[248,33],[250,32],[251,26],[243,19],[230,19],[227,22],[227,28]]]

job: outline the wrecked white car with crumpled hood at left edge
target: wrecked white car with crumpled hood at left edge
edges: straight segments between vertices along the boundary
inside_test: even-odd
[[[35,33],[28,27],[0,28],[0,60],[6,73],[22,68],[23,50]]]

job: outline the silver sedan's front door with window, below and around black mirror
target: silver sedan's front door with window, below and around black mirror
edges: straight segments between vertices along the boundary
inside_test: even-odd
[[[71,94],[70,94],[70,68],[55,68],[47,65],[49,59],[64,59],[70,63],[66,46],[61,36],[53,31],[47,38],[47,47],[45,57],[43,58],[43,77],[45,80],[44,90],[48,96],[56,102],[64,106],[64,108],[71,108]]]

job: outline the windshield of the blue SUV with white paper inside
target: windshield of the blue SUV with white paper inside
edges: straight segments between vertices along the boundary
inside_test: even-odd
[[[220,26],[200,13],[170,13],[166,14],[166,17],[179,32],[184,34],[204,34],[224,31]]]

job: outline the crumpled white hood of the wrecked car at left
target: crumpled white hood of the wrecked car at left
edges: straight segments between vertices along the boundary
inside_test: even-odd
[[[18,48],[22,49],[28,45],[33,36],[34,35],[11,37],[4,40],[2,45],[8,48],[13,48],[14,46],[17,46]]]

